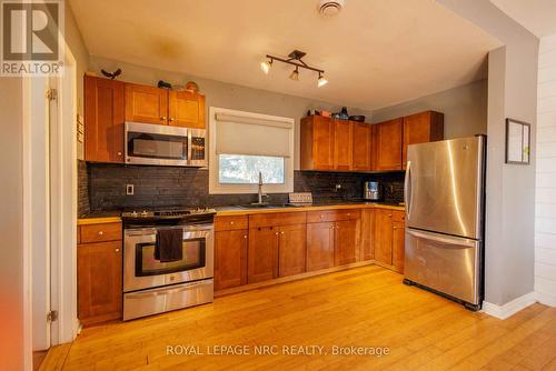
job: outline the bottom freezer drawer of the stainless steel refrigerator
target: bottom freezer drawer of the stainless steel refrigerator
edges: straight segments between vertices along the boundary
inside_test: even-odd
[[[480,242],[406,229],[407,280],[465,302],[480,303]]]

